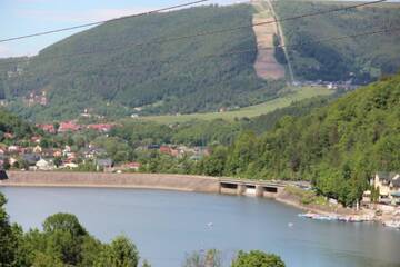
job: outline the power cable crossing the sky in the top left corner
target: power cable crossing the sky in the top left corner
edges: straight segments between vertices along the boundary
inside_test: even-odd
[[[113,22],[113,21],[136,18],[136,17],[148,16],[148,14],[152,14],[152,13],[159,13],[159,12],[168,11],[168,10],[172,10],[172,9],[184,8],[184,7],[189,7],[189,6],[197,4],[197,3],[203,3],[203,2],[207,2],[207,1],[210,1],[210,0],[198,0],[198,1],[194,1],[194,2],[188,2],[188,3],[182,3],[182,4],[176,4],[176,6],[168,7],[168,8],[151,10],[151,11],[143,12],[143,13],[137,13],[137,14],[131,14],[131,16],[126,16],[126,17],[120,17],[120,18],[114,18],[114,19],[109,19],[109,20],[101,20],[101,21],[90,22],[90,23],[86,23],[86,24],[79,24],[79,26],[61,28],[61,29],[57,29],[57,30],[36,32],[36,33],[31,33],[31,34],[27,34],[27,36],[19,36],[19,37],[12,37],[12,38],[7,38],[7,39],[0,39],[0,42],[9,42],[9,41],[14,41],[14,40],[32,38],[32,37],[52,34],[52,33],[62,32],[62,31],[77,30],[77,29],[81,29],[81,28],[88,28],[88,27],[92,27],[92,26],[102,24],[102,23],[106,23],[106,22]]]

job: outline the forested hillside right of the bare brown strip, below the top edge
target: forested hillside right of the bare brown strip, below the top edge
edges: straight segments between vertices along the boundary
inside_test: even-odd
[[[273,4],[279,18],[283,19],[354,3],[279,0]],[[400,31],[328,42],[316,40],[390,29],[398,24],[399,3],[371,4],[282,22],[296,79],[352,79],[357,83],[368,83],[382,75],[396,73],[400,69]]]

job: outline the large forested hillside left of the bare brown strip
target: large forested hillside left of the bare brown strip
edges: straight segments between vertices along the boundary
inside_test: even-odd
[[[8,98],[47,92],[47,107],[11,106],[30,118],[66,118],[84,108],[121,116],[143,106],[144,113],[176,113],[260,102],[283,86],[257,78],[256,52],[208,57],[256,49],[251,30],[162,41],[250,24],[252,13],[249,4],[209,6],[109,22],[42,50],[21,75],[13,66],[1,83]]]

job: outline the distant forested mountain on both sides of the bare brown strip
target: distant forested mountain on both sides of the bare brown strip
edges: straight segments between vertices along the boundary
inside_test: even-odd
[[[282,0],[274,6],[279,17],[286,18],[331,9],[338,3]],[[0,60],[0,99],[8,99],[11,111],[41,121],[76,118],[84,109],[111,118],[130,116],[137,110],[141,115],[203,113],[286,97],[283,80],[264,81],[257,77],[256,52],[229,53],[257,48],[254,33],[248,28],[159,42],[164,38],[250,24],[252,16],[250,4],[209,6],[104,23],[46,48],[28,62],[4,65],[12,60]],[[288,44],[306,41],[289,50],[297,78],[353,78],[367,82],[398,70],[398,32],[309,43],[368,31],[388,21],[400,23],[397,4],[283,23]],[[134,46],[146,42],[149,43]],[[43,93],[47,99],[41,105]],[[33,96],[31,101],[29,96]]]

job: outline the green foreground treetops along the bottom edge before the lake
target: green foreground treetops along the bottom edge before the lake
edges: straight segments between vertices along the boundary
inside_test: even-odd
[[[6,198],[0,192],[0,266],[1,267],[138,267],[140,256],[136,245],[124,236],[102,243],[91,236],[71,214],[48,217],[42,230],[22,228],[13,224],[4,209]],[[151,267],[142,260],[142,267]],[[183,267],[222,266],[220,253],[192,253]],[[232,267],[284,267],[273,254],[253,250],[239,251]]]

